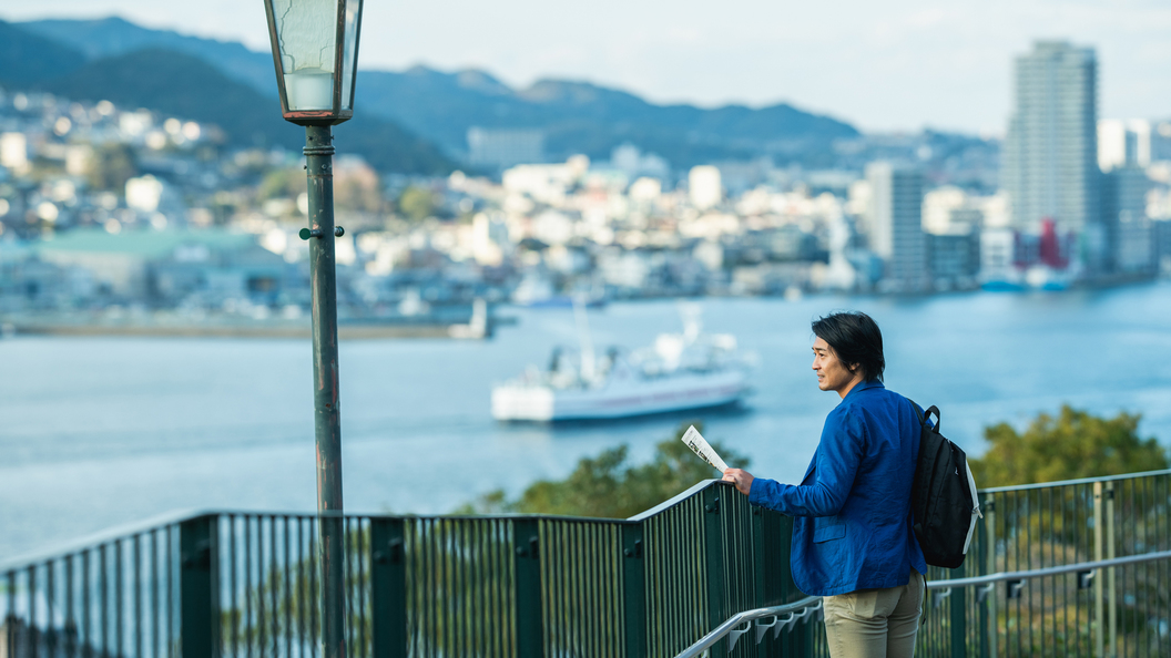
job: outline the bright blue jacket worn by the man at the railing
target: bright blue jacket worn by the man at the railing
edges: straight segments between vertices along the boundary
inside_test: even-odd
[[[856,384],[826,417],[800,486],[756,478],[748,501],[794,516],[793,581],[813,596],[910,581],[927,573],[915,539],[911,481],[919,419],[882,382]]]

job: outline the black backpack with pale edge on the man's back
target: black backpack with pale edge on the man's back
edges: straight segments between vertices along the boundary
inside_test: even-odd
[[[982,516],[975,480],[964,451],[939,433],[939,409],[931,406],[920,413],[913,402],[911,406],[922,426],[911,485],[915,537],[927,564],[956,569],[964,563],[975,520]],[[932,413],[933,426],[927,424]]]

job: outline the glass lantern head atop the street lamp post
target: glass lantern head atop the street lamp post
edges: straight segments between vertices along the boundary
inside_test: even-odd
[[[341,123],[354,114],[362,0],[265,0],[285,118]]]

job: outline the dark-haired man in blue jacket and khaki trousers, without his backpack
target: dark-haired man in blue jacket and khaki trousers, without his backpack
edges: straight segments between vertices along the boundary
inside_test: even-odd
[[[813,331],[817,388],[842,402],[804,479],[785,485],[740,468],[724,479],[752,505],[794,516],[793,580],[824,597],[830,656],[910,658],[927,570],[911,529],[918,416],[883,385],[882,333],[870,316],[835,313]]]

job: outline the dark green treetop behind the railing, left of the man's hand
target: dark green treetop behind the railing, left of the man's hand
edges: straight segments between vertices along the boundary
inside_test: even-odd
[[[516,500],[508,500],[505,492],[498,489],[457,512],[521,512],[608,519],[634,516],[698,481],[718,477],[711,466],[679,440],[690,425],[703,430],[701,421],[684,423],[674,438],[655,447],[655,458],[648,464],[630,465],[626,460],[629,446],[621,445],[604,450],[595,458],[583,458],[564,480],[534,482]],[[748,466],[748,458],[718,441],[712,441],[712,447],[730,466]]]

